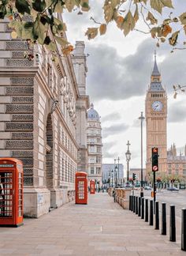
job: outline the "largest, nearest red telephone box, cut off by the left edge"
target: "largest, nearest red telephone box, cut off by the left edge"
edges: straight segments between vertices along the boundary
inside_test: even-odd
[[[23,224],[23,164],[0,158],[0,227]]]

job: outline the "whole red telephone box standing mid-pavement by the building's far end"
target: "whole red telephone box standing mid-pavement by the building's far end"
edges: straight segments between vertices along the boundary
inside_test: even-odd
[[[87,205],[87,173],[76,172],[76,204]]]

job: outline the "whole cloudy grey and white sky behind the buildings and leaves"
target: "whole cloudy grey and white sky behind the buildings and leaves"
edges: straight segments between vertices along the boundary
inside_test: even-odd
[[[68,24],[68,40],[84,40],[87,58],[87,94],[99,112],[102,121],[103,163],[113,163],[119,156],[126,168],[126,143],[131,143],[132,168],[140,168],[140,122],[139,115],[145,107],[145,96],[150,84],[151,71],[154,65],[156,42],[149,35],[132,32],[125,37],[122,32],[110,24],[106,35],[95,40],[84,36],[87,27],[95,24],[93,16],[101,21],[102,0],[90,1],[94,15],[85,13],[65,14]],[[174,0],[177,6],[173,12],[186,12],[185,0]],[[139,22],[139,28],[147,30]],[[173,99],[173,85],[186,85],[186,51],[170,53],[168,44],[157,49],[158,68],[162,73],[162,85],[168,94],[168,148],[173,142],[177,148],[186,144],[186,95]],[[144,164],[146,160],[146,130],[143,125]]]

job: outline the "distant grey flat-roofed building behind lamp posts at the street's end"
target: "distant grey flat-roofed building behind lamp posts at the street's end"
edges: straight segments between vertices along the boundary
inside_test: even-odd
[[[114,168],[117,166],[117,175],[114,172]],[[118,183],[122,184],[123,183],[123,178],[124,178],[124,166],[123,164],[119,164],[119,171],[118,171],[118,164],[102,164],[102,183],[108,183],[110,179],[110,185],[112,183],[114,184],[114,181],[116,181],[116,176],[118,177],[119,173],[119,180]]]

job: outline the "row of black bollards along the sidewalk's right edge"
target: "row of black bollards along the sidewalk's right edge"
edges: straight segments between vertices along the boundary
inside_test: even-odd
[[[175,205],[169,206],[169,241],[176,242],[176,215]],[[134,195],[129,196],[129,210],[149,222],[154,229],[159,229],[159,202],[139,198]],[[166,203],[162,202],[162,235],[166,235]],[[181,250],[186,251],[186,209],[181,213]]]

